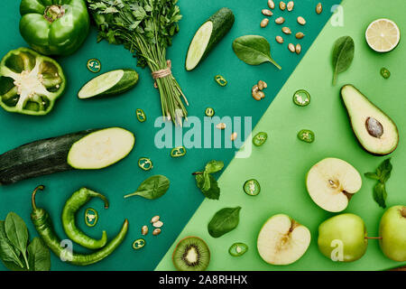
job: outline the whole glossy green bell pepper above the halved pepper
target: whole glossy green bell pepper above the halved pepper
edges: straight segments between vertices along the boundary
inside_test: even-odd
[[[90,18],[84,0],[22,0],[20,33],[45,55],[68,55],[88,36]]]

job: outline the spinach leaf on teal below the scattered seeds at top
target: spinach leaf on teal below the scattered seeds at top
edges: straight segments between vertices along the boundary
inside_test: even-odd
[[[233,50],[236,56],[247,64],[259,65],[263,62],[271,62],[281,70],[281,66],[271,57],[271,45],[263,36],[245,35],[238,37],[233,42]]]

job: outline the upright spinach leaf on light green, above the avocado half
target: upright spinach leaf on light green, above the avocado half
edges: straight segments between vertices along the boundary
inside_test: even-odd
[[[337,83],[338,73],[346,71],[354,59],[355,43],[350,36],[337,39],[333,49],[333,85]]]

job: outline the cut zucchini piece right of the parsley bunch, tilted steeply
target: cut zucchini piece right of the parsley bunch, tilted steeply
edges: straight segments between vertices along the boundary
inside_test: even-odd
[[[234,14],[228,8],[221,8],[203,23],[189,45],[186,56],[186,70],[194,70],[217,43],[226,36],[234,24]]]

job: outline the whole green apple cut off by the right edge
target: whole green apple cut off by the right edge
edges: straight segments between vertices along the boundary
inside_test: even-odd
[[[384,212],[379,235],[385,256],[394,261],[406,261],[406,206],[393,206]]]

